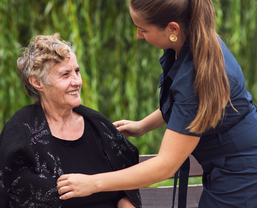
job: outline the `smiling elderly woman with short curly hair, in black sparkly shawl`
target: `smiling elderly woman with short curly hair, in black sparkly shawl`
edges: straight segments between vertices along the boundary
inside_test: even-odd
[[[82,79],[70,43],[38,35],[17,60],[35,104],[17,111],[0,136],[1,207],[141,207],[137,190],[59,199],[66,173],[111,172],[138,163],[138,150],[101,113],[81,105]]]

